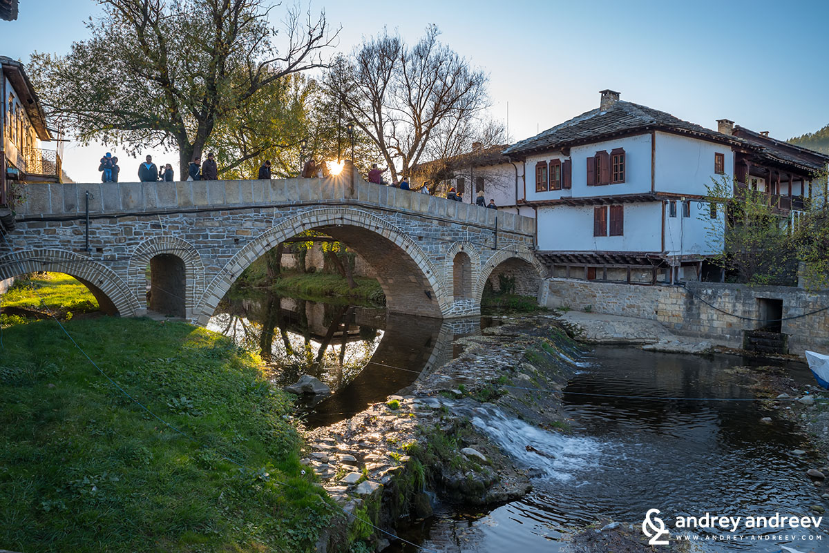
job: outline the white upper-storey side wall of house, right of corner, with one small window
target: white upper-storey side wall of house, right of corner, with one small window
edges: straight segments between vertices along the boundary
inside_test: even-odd
[[[674,194],[706,195],[706,186],[723,176],[734,176],[734,153],[725,144],[681,137],[668,132],[656,133],[654,189]],[[714,172],[714,154],[725,156],[725,175]]]

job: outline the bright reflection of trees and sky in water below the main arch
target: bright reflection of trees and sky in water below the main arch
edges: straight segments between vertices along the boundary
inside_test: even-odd
[[[286,309],[288,302],[294,309]],[[338,390],[361,372],[383,333],[355,325],[353,305],[324,305],[322,321],[309,320],[311,305],[271,293],[262,301],[223,300],[208,328],[258,351],[280,384],[311,374]]]

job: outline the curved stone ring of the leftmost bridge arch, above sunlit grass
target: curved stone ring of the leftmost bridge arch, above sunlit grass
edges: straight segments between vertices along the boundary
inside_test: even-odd
[[[139,315],[140,306],[127,284],[109,267],[75,252],[34,249],[0,256],[0,280],[27,272],[63,272],[90,289],[107,315]]]

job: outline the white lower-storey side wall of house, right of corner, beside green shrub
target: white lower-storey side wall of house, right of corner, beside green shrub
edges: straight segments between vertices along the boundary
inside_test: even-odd
[[[712,239],[712,231],[721,231],[725,222],[722,209],[712,224],[707,202],[691,200],[691,217],[682,216],[682,203],[676,201],[676,217],[670,217],[670,203],[665,202],[665,250],[668,255],[714,254],[722,251],[722,238]]]

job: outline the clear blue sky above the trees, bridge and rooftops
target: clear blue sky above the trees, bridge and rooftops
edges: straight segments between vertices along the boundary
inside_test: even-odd
[[[599,90],[715,127],[719,118],[787,139],[829,123],[829,2],[320,2],[349,51],[382,26],[415,41],[429,23],[490,75],[492,114],[521,140],[597,107]],[[275,10],[279,22],[281,8]],[[0,55],[64,54],[86,36],[91,0],[21,0],[0,22]],[[75,180],[100,148],[69,149]],[[74,159],[72,159],[74,157]],[[176,161],[177,156],[156,156]],[[132,175],[128,161],[124,177]],[[176,164],[173,164],[176,166]]]

